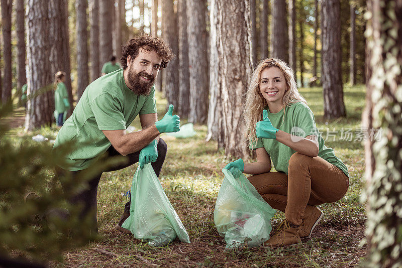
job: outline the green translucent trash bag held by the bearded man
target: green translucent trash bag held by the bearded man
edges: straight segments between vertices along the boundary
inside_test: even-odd
[[[123,228],[154,246],[166,246],[176,237],[189,243],[187,231],[162,189],[151,164],[138,167],[131,185],[130,216]]]

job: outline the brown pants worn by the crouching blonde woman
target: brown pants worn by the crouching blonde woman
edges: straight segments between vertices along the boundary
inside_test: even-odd
[[[272,208],[284,212],[294,225],[302,224],[308,205],[338,201],[349,188],[349,178],[342,170],[321,157],[299,153],[290,157],[288,175],[268,172],[248,180]]]

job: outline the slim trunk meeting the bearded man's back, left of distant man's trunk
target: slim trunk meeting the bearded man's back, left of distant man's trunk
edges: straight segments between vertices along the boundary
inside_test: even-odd
[[[100,76],[99,63],[99,1],[89,1],[89,40],[90,40],[90,81],[93,82]]]

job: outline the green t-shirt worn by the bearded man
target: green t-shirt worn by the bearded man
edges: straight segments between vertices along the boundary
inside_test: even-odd
[[[76,150],[67,157],[69,170],[82,170],[111,146],[102,130],[126,129],[138,114],[155,113],[155,86],[148,96],[137,95],[124,82],[123,69],[89,84],[72,115],[56,137],[53,149],[74,141]]]

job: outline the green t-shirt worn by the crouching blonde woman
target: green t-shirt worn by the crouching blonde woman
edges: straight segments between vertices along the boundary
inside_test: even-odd
[[[268,118],[271,120],[274,127],[303,138],[306,138],[310,135],[317,136],[319,144],[318,156],[338,167],[346,174],[346,176],[349,177],[348,168],[346,165],[335,156],[332,148],[327,148],[324,145],[324,139],[317,129],[314,114],[307,104],[303,102],[296,102],[290,106],[286,106],[284,116],[283,109],[277,113],[269,112],[268,106],[265,107],[265,109],[268,111]],[[276,171],[281,171],[286,174],[288,174],[289,159],[291,155],[296,153],[296,151],[290,147],[279,143],[276,140],[264,138],[258,138],[257,142],[251,144],[249,148],[265,148],[268,155],[271,157],[272,164]]]

